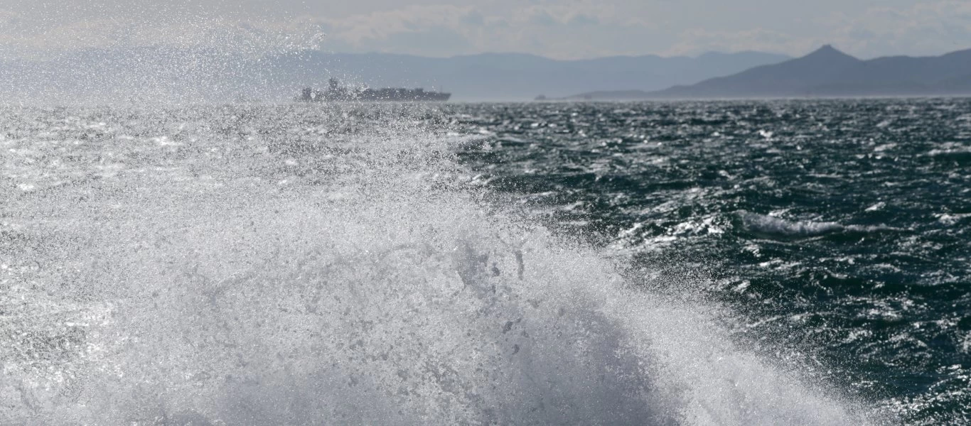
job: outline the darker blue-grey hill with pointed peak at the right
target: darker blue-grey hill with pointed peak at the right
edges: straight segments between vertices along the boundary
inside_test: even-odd
[[[644,98],[933,96],[971,94],[971,49],[941,56],[860,60],[831,46]]]

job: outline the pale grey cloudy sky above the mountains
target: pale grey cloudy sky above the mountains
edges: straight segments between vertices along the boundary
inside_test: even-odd
[[[971,0],[0,0],[0,53],[152,45],[559,59],[971,48]]]

